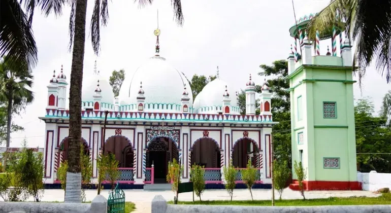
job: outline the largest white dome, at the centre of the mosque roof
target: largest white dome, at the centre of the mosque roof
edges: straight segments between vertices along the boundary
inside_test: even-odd
[[[190,94],[189,105],[191,106],[193,103],[192,91],[185,76],[171,66],[165,58],[151,57],[137,68],[133,75],[125,75],[124,83],[119,92],[121,105],[137,103],[140,82],[142,82],[144,90],[145,103],[180,105],[184,85]],[[175,109],[173,108],[173,110]],[[152,110],[149,109],[149,111]]]

